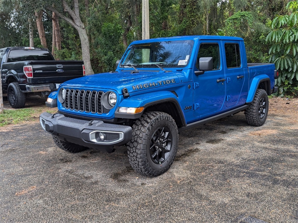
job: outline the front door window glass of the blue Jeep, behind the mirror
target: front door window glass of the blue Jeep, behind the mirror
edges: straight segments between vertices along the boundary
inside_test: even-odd
[[[213,70],[220,68],[219,46],[216,43],[203,43],[200,45],[196,67],[201,57],[213,57]]]

